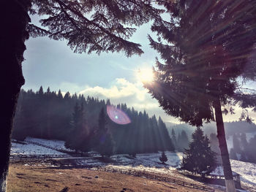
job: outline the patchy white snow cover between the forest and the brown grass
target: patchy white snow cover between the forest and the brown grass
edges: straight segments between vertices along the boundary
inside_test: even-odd
[[[63,141],[27,138],[25,142],[28,144],[22,145],[12,142],[11,154],[64,155],[64,153],[60,153],[59,151],[29,144],[29,142],[37,142],[49,147],[55,147],[59,150],[67,150],[66,147],[64,147]],[[138,154],[136,158],[132,158],[126,154],[113,155],[111,156],[113,162],[103,163],[99,161],[100,155],[95,152],[91,152],[91,157],[79,158],[77,164],[83,166],[111,166],[121,169],[136,169],[140,171],[157,172],[159,174],[171,174],[173,170],[179,167],[183,153],[166,152],[165,154],[168,159],[165,165],[161,164],[159,161],[161,153]],[[250,188],[255,188],[256,191],[256,164],[231,160],[231,166],[234,172],[241,174],[241,183]],[[190,179],[188,178],[188,180]]]

